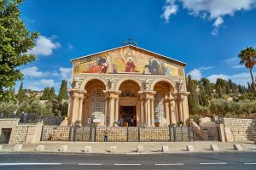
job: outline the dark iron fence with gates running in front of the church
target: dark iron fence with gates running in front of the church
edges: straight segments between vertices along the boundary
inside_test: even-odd
[[[207,140],[219,140],[218,133],[209,127]],[[42,141],[103,142],[182,142],[201,140],[193,127],[60,127],[44,126]]]

